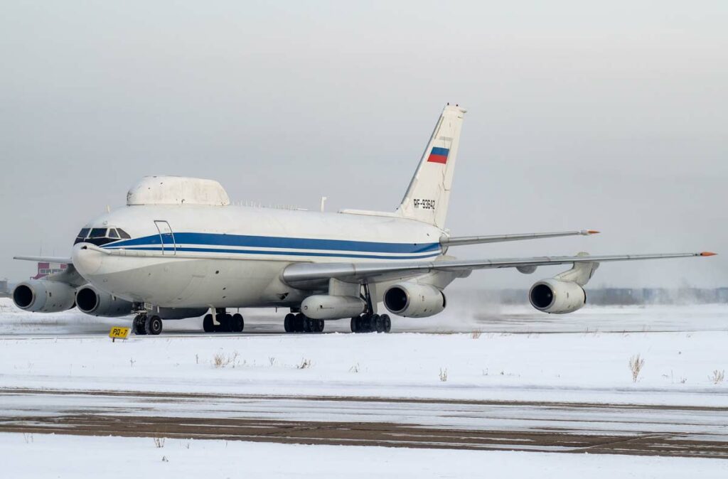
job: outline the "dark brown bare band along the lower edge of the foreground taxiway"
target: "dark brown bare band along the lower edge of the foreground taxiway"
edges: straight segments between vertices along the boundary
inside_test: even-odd
[[[72,414],[0,417],[0,432],[728,458],[728,442],[700,438],[699,435],[592,435],[558,430],[438,429],[382,422]]]

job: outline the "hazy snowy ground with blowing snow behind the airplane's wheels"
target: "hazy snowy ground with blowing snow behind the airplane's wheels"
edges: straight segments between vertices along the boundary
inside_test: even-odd
[[[524,299],[524,301],[526,301]],[[380,305],[381,307],[381,305]],[[282,333],[285,311],[242,309],[246,332]],[[71,309],[59,313],[28,313],[10,298],[0,298],[0,336],[68,335],[108,332],[111,325],[130,325],[132,316],[92,317]],[[202,332],[202,317],[165,321],[165,333]],[[565,333],[593,331],[698,331],[728,330],[728,304],[590,306],[571,314],[544,314],[527,304],[503,306],[452,293],[448,309],[420,319],[393,317],[393,332]],[[326,322],[327,332],[349,332],[349,321]]]

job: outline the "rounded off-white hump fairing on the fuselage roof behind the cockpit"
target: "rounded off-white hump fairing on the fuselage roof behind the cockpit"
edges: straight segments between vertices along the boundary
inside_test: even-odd
[[[183,176],[145,176],[127,193],[127,206],[228,206],[230,198],[220,183]]]

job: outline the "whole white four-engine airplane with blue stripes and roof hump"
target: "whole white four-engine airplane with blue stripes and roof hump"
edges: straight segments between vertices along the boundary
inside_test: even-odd
[[[491,242],[596,234],[593,230],[454,237],[445,229],[465,109],[440,114],[414,176],[393,212],[324,213],[232,205],[220,183],[148,176],[124,207],[88,222],[70,257],[16,256],[68,264],[64,272],[18,284],[15,305],[31,312],[74,306],[87,314],[135,314],[135,334],[162,332],[162,320],[205,314],[205,332],[240,332],[245,320],[229,309],[290,310],[287,333],[320,333],[325,321],[349,320],[352,332],[385,332],[389,314],[430,317],[446,308],[445,288],[475,269],[571,268],[534,283],[535,309],[574,312],[601,263],[713,256],[670,253],[542,256],[459,260],[451,248]],[[209,312],[208,312],[209,311]]]

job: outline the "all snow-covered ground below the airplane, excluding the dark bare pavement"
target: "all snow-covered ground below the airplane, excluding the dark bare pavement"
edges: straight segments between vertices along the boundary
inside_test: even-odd
[[[424,328],[445,331],[450,322],[456,327],[449,330],[467,331],[453,334],[256,334],[256,330],[274,331],[277,323],[270,312],[261,313],[256,329],[253,312],[247,314],[251,334],[183,333],[185,329],[191,332],[199,328],[198,320],[189,320],[173,323],[179,325],[180,333],[131,336],[127,341],[114,343],[106,336],[108,328],[124,324],[124,320],[100,320],[74,311],[29,314],[19,312],[7,302],[0,306],[0,388],[6,391],[0,401],[4,402],[6,416],[27,414],[23,411],[39,413],[44,404],[51,414],[79,406],[104,413],[123,414],[125,407],[137,414],[144,411],[143,399],[133,397],[99,395],[89,400],[87,394],[85,399],[84,395],[23,396],[8,392],[13,388],[206,393],[215,395],[207,400],[207,407],[204,398],[189,403],[157,399],[150,401],[154,405],[149,406],[147,413],[194,416],[202,411],[210,417],[256,415],[315,421],[346,421],[352,411],[335,403],[320,403],[320,410],[307,410],[306,405],[296,404],[296,397],[550,401],[672,405],[677,409],[651,408],[645,412],[625,408],[622,417],[620,411],[609,408],[574,412],[550,405],[516,405],[518,415],[513,416],[514,406],[504,404],[487,411],[473,410],[465,417],[467,406],[453,406],[450,413],[439,405],[422,405],[415,411],[405,406],[397,409],[395,403],[389,402],[367,405],[367,420],[411,421],[436,427],[495,424],[506,429],[537,429],[543,427],[543,421],[569,421],[569,427],[585,432],[590,432],[590,428],[606,431],[619,422],[620,430],[626,433],[630,433],[628,425],[633,423],[635,432],[684,431],[714,435],[720,440],[728,435],[725,416],[711,419],[711,412],[705,410],[696,411],[692,417],[689,409],[728,408],[728,382],[720,379],[721,372],[728,370],[728,307],[723,305],[588,308],[577,313],[582,315],[582,323],[579,317],[546,316],[526,309],[502,311],[493,321],[476,314],[459,318],[450,312]],[[560,327],[561,318],[565,318],[566,328]],[[628,327],[609,328],[614,323]],[[417,323],[409,320],[395,324],[400,324],[400,331],[406,331],[411,328],[409,325]],[[489,328],[491,324],[497,324],[497,328]],[[483,332],[478,333],[479,330]],[[507,330],[513,332],[495,332]],[[644,360],[644,366],[633,381],[628,363],[636,355]],[[236,402],[226,400],[224,395],[261,398]],[[268,401],[263,396],[286,396],[290,400]],[[428,413],[428,407],[442,411]],[[619,416],[617,421],[615,414]],[[646,429],[644,424],[651,425]],[[28,440],[27,435],[0,435],[0,460],[12,467],[10,471],[19,470],[33,477],[78,477],[92,472],[99,475],[102,469],[108,475],[140,477],[210,471],[220,477],[321,477],[340,476],[342,472],[362,476],[464,477],[480,476],[487,471],[524,477],[558,474],[569,478],[684,477],[687,471],[701,477],[726,477],[728,467],[728,462],[709,459],[417,451],[237,441],[167,439],[165,448],[158,449],[149,438],[33,436]],[[189,449],[186,444],[191,445]],[[92,454],[84,454],[84,461],[60,461],[55,466],[32,459],[60,458],[68,456],[68,451],[79,450]],[[162,456],[168,462],[162,462]],[[220,457],[234,459],[219,460]],[[280,457],[287,461],[281,462]],[[111,464],[119,467],[115,469]]]

